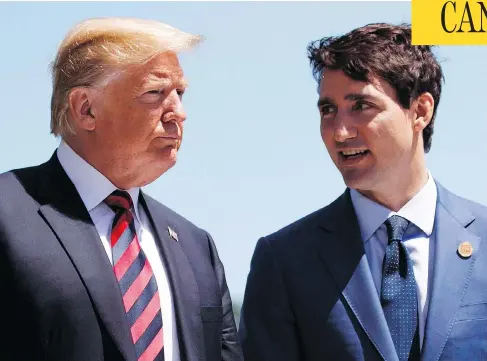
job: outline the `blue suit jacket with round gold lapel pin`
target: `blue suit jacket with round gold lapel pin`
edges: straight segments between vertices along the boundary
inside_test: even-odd
[[[421,360],[487,360],[487,208],[436,184]],[[349,190],[259,239],[239,334],[246,361],[398,360]]]

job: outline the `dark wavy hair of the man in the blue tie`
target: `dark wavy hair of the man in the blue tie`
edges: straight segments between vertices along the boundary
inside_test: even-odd
[[[410,25],[368,24],[342,36],[313,41],[307,50],[318,85],[325,69],[341,70],[358,81],[377,76],[391,84],[406,109],[420,94],[429,92],[435,101],[431,122],[423,130],[424,150],[429,152],[444,77],[432,46],[411,45]]]

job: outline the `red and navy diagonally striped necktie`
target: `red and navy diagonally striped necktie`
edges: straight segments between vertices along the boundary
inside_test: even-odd
[[[138,361],[164,360],[161,303],[149,260],[140,248],[127,192],[114,191],[105,203],[115,212],[110,244],[113,269]]]

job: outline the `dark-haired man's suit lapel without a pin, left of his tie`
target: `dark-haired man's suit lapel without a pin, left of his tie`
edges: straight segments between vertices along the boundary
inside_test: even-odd
[[[384,360],[397,360],[348,189],[330,205],[322,228],[328,234],[320,253],[343,297]]]

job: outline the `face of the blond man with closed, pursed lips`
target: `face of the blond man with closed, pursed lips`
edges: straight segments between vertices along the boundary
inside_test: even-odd
[[[142,186],[176,163],[185,88],[177,55],[165,53],[128,68],[94,98],[98,157],[117,163],[116,177]]]

